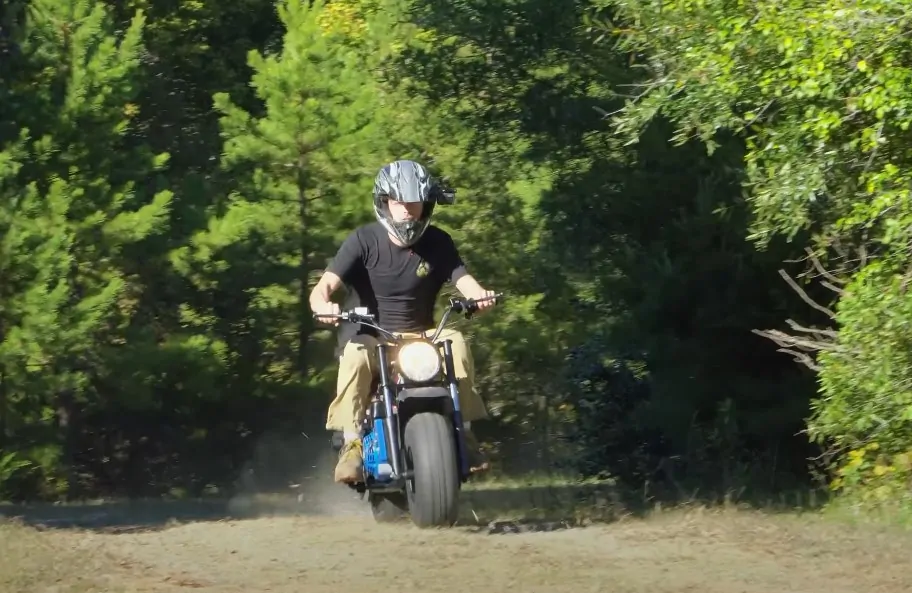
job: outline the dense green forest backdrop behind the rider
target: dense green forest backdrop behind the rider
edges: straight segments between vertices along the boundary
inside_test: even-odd
[[[892,0],[5,2],[0,498],[294,481],[335,379],[306,295],[413,158],[509,296],[459,325],[499,472],[908,505],[909,28]]]

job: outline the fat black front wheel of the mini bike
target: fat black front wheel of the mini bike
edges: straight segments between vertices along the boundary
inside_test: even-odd
[[[403,441],[413,476],[406,485],[412,522],[418,527],[453,525],[459,514],[453,425],[440,414],[422,412],[406,424]]]

